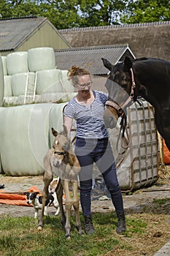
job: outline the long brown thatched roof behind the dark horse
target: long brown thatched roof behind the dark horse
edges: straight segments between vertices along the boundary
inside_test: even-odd
[[[170,21],[58,30],[72,47],[127,43],[136,58],[170,61]]]

